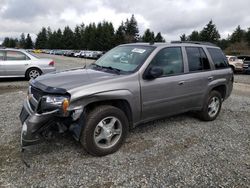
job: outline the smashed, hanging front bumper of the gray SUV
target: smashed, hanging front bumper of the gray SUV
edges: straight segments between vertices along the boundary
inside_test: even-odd
[[[67,115],[63,115],[60,113],[60,109],[37,113],[36,110],[32,109],[32,106],[37,106],[35,103],[34,98],[27,98],[19,115],[22,123],[22,148],[44,141],[51,129],[58,132],[69,130],[73,137],[79,141],[85,122],[85,111],[82,106],[75,107]]]

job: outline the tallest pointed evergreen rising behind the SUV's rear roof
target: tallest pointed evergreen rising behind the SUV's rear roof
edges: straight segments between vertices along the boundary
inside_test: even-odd
[[[220,34],[216,29],[215,24],[212,20],[208,22],[208,24],[201,30],[200,32],[200,40],[206,42],[217,43],[220,39]]]

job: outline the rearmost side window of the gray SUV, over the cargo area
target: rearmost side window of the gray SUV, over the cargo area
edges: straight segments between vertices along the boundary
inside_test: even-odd
[[[228,67],[226,56],[218,48],[207,48],[211,58],[213,60],[216,69],[223,69]]]

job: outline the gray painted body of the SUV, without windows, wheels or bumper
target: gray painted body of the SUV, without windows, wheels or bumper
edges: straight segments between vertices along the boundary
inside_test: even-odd
[[[172,46],[182,49],[184,73],[144,79],[143,74],[154,56],[161,49]],[[79,69],[48,74],[38,77],[35,81],[50,87],[66,89],[71,96],[69,111],[93,102],[125,100],[131,108],[132,123],[135,126],[160,117],[200,110],[209,92],[216,86],[226,87],[225,98],[230,95],[232,70],[230,68],[215,70],[206,46],[199,45],[206,52],[211,70],[189,72],[184,49],[186,46],[197,47],[194,44],[156,45],[156,49],[139,70],[129,75]]]

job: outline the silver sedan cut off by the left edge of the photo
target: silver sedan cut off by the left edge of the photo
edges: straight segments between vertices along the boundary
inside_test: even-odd
[[[0,49],[0,78],[34,79],[55,70],[55,62],[52,59],[39,58],[25,50]]]

